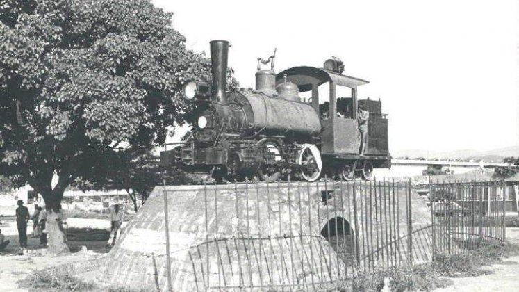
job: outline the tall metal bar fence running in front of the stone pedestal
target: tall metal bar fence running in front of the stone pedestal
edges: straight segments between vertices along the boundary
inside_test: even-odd
[[[320,181],[165,189],[164,198],[186,192],[203,206],[188,250],[197,290],[291,290],[500,244],[502,190],[431,184],[420,196],[411,181]]]

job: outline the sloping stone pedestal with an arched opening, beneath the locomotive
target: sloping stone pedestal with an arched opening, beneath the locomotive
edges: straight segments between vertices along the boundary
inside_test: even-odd
[[[107,255],[98,279],[114,286],[167,289],[164,194],[174,291],[308,289],[343,279],[351,269],[374,265],[377,257],[388,256],[384,250],[394,252],[395,263],[404,259],[409,246],[406,241],[399,245],[409,232],[404,215],[396,224],[399,216],[394,214],[394,233],[386,241],[374,235],[388,223],[381,214],[391,210],[390,204],[381,202],[391,195],[370,195],[368,200],[367,192],[347,191],[343,185],[156,187]],[[393,200],[400,196],[395,194]],[[404,197],[394,202],[393,213],[406,211]],[[430,225],[422,200],[417,197],[411,203],[414,228]],[[332,237],[338,239],[329,244],[327,238]],[[336,252],[341,238],[352,243],[345,250],[354,255]],[[430,241],[423,232],[414,244],[418,239]],[[427,248],[420,252],[427,256]],[[411,257],[420,258],[418,250]]]

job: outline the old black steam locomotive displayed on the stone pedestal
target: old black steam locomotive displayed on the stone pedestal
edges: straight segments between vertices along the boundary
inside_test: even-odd
[[[211,41],[211,86],[191,81],[184,98],[195,104],[192,132],[181,145],[160,153],[162,165],[188,172],[212,172],[216,181],[371,179],[373,168],[389,168],[388,120],[380,100],[357,100],[357,87],[368,83],[341,74],[337,58],[324,68],[292,67],[274,73],[274,56],[258,58],[256,90],[226,92],[229,42]],[[261,70],[260,63],[271,64]],[[329,83],[329,100],[320,104],[319,86]],[[351,96],[337,98],[337,86]],[[311,91],[302,99],[299,92]],[[370,113],[363,154],[358,108]]]

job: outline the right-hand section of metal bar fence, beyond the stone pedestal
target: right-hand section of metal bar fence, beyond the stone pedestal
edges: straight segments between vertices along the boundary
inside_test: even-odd
[[[431,184],[434,253],[500,245],[506,230],[505,187],[493,181]]]

